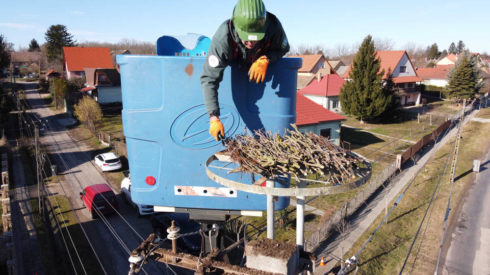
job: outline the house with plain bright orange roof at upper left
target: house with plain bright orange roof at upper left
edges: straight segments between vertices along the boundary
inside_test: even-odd
[[[63,70],[66,78],[82,78],[85,68],[113,69],[109,48],[63,47]]]

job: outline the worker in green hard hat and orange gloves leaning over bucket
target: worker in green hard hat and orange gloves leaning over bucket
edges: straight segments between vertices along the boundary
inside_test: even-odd
[[[201,75],[202,93],[210,116],[209,133],[224,137],[219,116],[218,87],[223,71],[236,61],[249,80],[263,82],[269,63],[289,52],[289,43],[277,17],[266,11],[261,0],[239,0],[231,19],[224,21],[213,36]]]

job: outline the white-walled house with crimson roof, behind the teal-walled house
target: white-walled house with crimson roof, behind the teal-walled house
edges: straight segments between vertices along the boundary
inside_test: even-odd
[[[298,92],[323,108],[338,113],[342,111],[339,95],[344,83],[346,81],[337,74],[327,74],[320,81],[314,80]]]

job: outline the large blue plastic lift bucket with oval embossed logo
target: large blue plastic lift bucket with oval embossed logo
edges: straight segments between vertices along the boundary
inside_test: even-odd
[[[203,193],[226,189],[205,172],[206,160],[224,148],[208,133],[200,83],[204,62],[205,57],[117,56],[132,199],[153,206],[264,211],[265,195],[240,190],[228,196]],[[261,84],[250,83],[238,65],[227,67],[219,87],[225,136],[243,134],[245,129],[283,134],[291,128],[301,63],[300,58],[282,58],[269,65]],[[228,178],[240,181],[247,176],[233,173]],[[288,205],[289,197],[279,197],[275,209]]]

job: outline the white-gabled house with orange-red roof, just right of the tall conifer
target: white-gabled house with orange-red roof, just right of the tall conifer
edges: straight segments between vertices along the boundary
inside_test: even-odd
[[[399,88],[398,98],[402,106],[420,104],[420,83],[421,79],[412,65],[406,51],[376,51],[376,58],[380,62],[379,71],[384,69],[383,79],[387,77],[388,69],[393,72],[393,81]],[[343,78],[349,80],[349,73],[352,64],[346,70]]]

